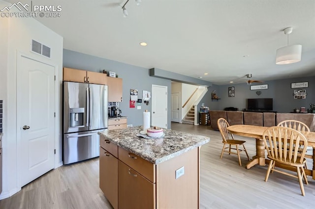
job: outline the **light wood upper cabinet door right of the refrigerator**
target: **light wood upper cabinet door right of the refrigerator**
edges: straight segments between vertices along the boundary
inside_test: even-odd
[[[108,102],[123,102],[123,78],[107,77]]]

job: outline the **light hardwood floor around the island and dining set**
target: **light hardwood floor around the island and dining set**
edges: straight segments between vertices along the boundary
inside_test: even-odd
[[[304,184],[303,197],[297,179],[272,173],[264,182],[267,166],[245,169],[245,153],[241,153],[242,167],[236,155],[224,153],[220,159],[223,144],[219,131],[178,123],[172,123],[172,129],[210,136],[210,142],[200,151],[201,209],[315,208],[315,181],[311,177],[309,185]],[[247,141],[245,146],[252,157],[255,140],[235,137]],[[0,209],[111,209],[98,186],[98,166],[98,158],[94,158],[52,170],[0,200]]]

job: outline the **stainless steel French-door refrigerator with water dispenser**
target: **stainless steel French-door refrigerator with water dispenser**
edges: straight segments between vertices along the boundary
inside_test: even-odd
[[[108,127],[107,85],[63,82],[63,164],[99,156]]]

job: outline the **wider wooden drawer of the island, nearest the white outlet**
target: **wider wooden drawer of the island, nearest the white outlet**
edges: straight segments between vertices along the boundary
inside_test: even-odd
[[[118,159],[137,171],[152,183],[156,183],[156,165],[125,149],[118,147]]]

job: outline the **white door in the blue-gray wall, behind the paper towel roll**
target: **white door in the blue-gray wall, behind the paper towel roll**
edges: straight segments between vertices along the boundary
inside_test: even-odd
[[[167,86],[152,85],[151,125],[167,129]]]

